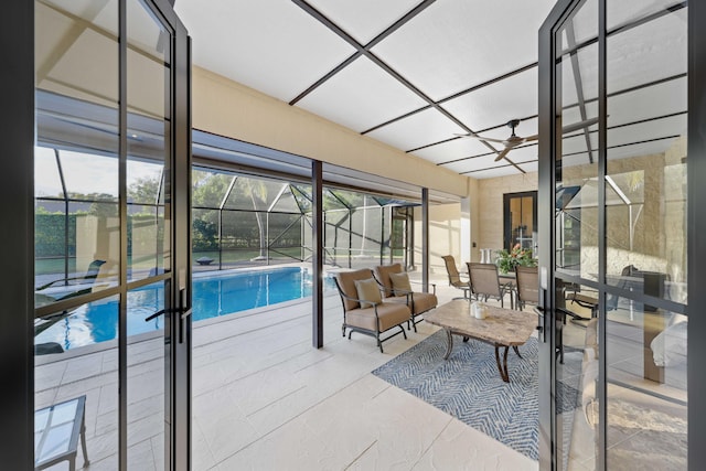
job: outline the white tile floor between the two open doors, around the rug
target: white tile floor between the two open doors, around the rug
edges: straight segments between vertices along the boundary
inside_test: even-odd
[[[439,282],[440,302],[459,293]],[[194,469],[538,468],[370,373],[436,328],[421,322],[418,333],[396,336],[381,353],[372,338],[341,336],[338,296],[324,304],[320,350],[311,347],[308,304],[194,333]]]

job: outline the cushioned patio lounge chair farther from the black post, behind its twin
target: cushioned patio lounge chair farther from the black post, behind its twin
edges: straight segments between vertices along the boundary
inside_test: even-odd
[[[415,321],[417,315],[434,309],[439,303],[437,299],[437,287],[432,286],[432,292],[413,291],[410,287],[409,277],[407,272],[403,270],[400,264],[381,265],[375,267],[375,278],[383,287],[383,299],[387,302],[407,302],[409,301],[409,309],[411,310],[411,327],[417,332],[417,323],[421,322],[421,319]],[[407,322],[407,330],[409,330],[409,322]]]

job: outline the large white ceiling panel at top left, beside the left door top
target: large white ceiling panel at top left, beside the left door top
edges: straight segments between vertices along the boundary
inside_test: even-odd
[[[180,0],[194,64],[289,101],[355,50],[289,0]]]

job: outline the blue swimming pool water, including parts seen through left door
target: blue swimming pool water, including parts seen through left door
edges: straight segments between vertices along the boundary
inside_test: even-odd
[[[192,281],[194,322],[311,296],[311,275],[299,267],[247,272],[220,272],[194,277]],[[324,289],[333,281],[324,280]],[[128,292],[128,335],[163,328],[162,317],[149,322],[163,308],[163,288],[150,285]],[[64,350],[106,342],[117,338],[118,301],[109,298],[76,309],[68,318],[35,338],[35,344],[56,342]]]

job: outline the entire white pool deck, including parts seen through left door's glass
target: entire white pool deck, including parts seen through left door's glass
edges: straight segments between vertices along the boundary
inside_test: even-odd
[[[432,281],[440,303],[458,296],[446,277]],[[324,346],[318,350],[310,301],[194,325],[192,469],[538,468],[371,374],[436,327],[419,323],[407,340],[386,342],[383,354],[372,338],[341,336],[341,301],[331,295],[324,298]],[[161,339],[128,347],[130,469],[163,469],[163,349]],[[38,357],[35,408],[86,394],[89,469],[114,470],[117,350],[86,352],[53,362]]]

